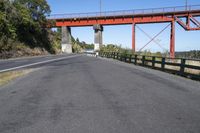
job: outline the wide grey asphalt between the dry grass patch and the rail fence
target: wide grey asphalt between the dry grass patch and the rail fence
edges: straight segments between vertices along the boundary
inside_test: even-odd
[[[0,133],[200,133],[200,83],[77,56],[0,87]]]

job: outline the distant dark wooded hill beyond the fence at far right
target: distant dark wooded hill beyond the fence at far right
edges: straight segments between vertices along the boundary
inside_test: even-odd
[[[200,59],[200,50],[176,52],[175,55],[178,58]]]

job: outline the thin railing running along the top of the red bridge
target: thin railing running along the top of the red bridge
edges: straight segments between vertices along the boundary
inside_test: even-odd
[[[109,16],[128,16],[128,15],[148,15],[156,13],[176,13],[181,11],[200,10],[200,5],[176,6],[163,8],[149,8],[136,10],[120,10],[107,12],[89,12],[89,13],[72,13],[72,14],[52,14],[47,16],[48,19],[73,19],[73,18],[92,18],[92,17],[109,17]]]

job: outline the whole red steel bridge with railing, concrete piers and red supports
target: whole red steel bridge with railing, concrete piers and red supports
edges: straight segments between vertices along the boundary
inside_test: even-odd
[[[63,52],[68,53],[71,52],[70,27],[94,26],[95,50],[99,50],[99,47],[102,44],[103,25],[132,24],[132,49],[135,51],[136,24],[169,23],[167,27],[171,26],[170,57],[173,58],[175,56],[175,22],[177,22],[186,31],[200,30],[200,21],[196,18],[199,16],[200,5],[191,5],[187,7],[178,6],[95,13],[56,14],[50,15],[48,19],[55,20],[55,24],[51,25],[51,27],[62,27],[62,50]],[[155,38],[167,29],[167,27],[151,38],[150,42],[155,41]],[[148,42],[145,46],[147,46],[150,42]]]

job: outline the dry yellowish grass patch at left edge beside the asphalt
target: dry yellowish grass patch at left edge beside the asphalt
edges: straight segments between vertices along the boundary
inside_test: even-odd
[[[30,73],[31,71],[32,71],[31,69],[28,69],[28,70],[19,70],[19,71],[0,73],[0,86],[5,85],[18,77],[26,75]]]

